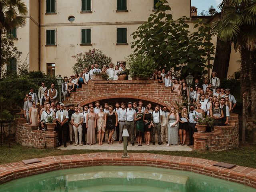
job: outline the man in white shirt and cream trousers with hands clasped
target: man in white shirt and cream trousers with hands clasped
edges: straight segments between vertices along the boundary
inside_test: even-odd
[[[73,125],[73,130],[74,130],[74,133],[75,133],[75,146],[78,145],[78,136],[77,136],[77,133],[79,133],[79,141],[80,141],[80,146],[83,146],[82,144],[82,124],[84,122],[84,119],[83,119],[83,115],[82,113],[78,112],[78,107],[75,107],[75,113],[72,114],[71,116],[71,122],[72,122],[72,125]]]

